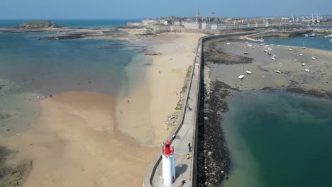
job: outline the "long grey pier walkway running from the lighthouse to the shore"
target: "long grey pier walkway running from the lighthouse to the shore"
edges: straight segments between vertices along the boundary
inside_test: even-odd
[[[176,179],[172,186],[196,186],[196,163],[197,161],[197,119],[199,113],[199,86],[201,75],[201,49],[202,40],[199,40],[196,57],[194,58],[194,66],[192,75],[189,78],[187,92],[184,96],[189,96],[187,102],[183,103],[182,116],[180,115],[175,135],[177,137],[172,140],[172,136],[168,137],[172,146],[175,147],[175,175]],[[184,99],[184,101],[186,101]],[[192,110],[189,110],[189,107]],[[188,144],[190,143],[192,151],[189,152]],[[187,154],[190,158],[187,159]],[[155,159],[155,166],[150,166],[148,176],[143,180],[143,186],[163,186],[162,179],[162,162],[161,161],[161,145],[160,157]],[[150,176],[149,176],[150,175]]]

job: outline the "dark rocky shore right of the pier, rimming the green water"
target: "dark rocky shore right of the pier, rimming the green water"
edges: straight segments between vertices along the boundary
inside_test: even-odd
[[[256,63],[255,58],[243,57],[234,53],[223,50],[221,45],[226,45],[226,42],[245,42],[245,40],[238,40],[238,38],[218,38],[209,40],[204,43],[204,75],[202,79],[204,83],[201,85],[201,103],[199,112],[199,136],[198,136],[198,169],[197,179],[198,186],[218,186],[228,176],[228,171],[231,169],[231,160],[229,159],[229,152],[226,146],[226,138],[223,133],[223,113],[228,109],[228,96],[235,94],[237,91],[244,90],[266,90],[266,89],[282,89],[294,94],[301,94],[306,96],[315,96],[319,98],[332,98],[330,90],[311,89],[311,85],[306,85],[306,80],[299,81],[292,73],[285,72],[288,77],[288,83],[285,82],[271,86],[258,86],[251,84],[243,87],[242,84],[230,84],[226,75],[222,77],[216,67],[236,67],[240,64]],[[243,53],[242,53],[243,54]],[[257,67],[260,67],[257,64]],[[220,67],[219,67],[220,68]],[[259,69],[259,68],[258,68]],[[224,70],[227,71],[227,70]],[[265,68],[260,68],[261,74],[271,74]],[[295,72],[295,75],[299,72]],[[291,77],[291,78],[289,78]],[[236,76],[237,78],[237,76]],[[316,77],[314,77],[316,78]],[[225,79],[225,81],[223,81]],[[317,78],[316,78],[317,79]],[[237,81],[237,80],[236,80]],[[280,86],[281,84],[284,84]],[[323,87],[323,86],[322,86]]]

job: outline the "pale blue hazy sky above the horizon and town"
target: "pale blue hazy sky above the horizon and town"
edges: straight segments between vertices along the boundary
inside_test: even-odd
[[[331,0],[0,0],[0,19],[130,19],[332,14]]]

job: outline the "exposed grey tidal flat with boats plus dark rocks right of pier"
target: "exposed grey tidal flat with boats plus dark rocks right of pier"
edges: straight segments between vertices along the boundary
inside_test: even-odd
[[[258,44],[243,57],[243,46],[248,40],[239,40],[240,35],[216,36],[204,42],[204,74],[201,85],[198,135],[198,186],[218,186],[227,179],[231,169],[226,138],[223,133],[223,113],[227,111],[227,98],[237,91],[281,89],[296,94],[332,98],[331,52],[305,50],[306,57],[300,57],[301,47],[288,50],[286,46],[270,45],[277,54],[277,62],[262,52]],[[231,45],[226,43],[230,42]],[[319,59],[311,60],[312,56]],[[284,64],[282,74],[275,74],[278,62]],[[306,64],[310,73],[305,72]],[[250,77],[238,79],[243,65],[253,71]]]

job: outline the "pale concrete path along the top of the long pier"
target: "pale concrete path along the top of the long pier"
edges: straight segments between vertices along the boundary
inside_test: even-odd
[[[201,54],[201,45],[197,54]],[[175,147],[175,174],[176,179],[172,186],[181,186],[182,181],[185,181],[183,186],[192,186],[193,174],[193,150],[194,150],[194,128],[196,126],[196,115],[199,110],[199,103],[197,103],[198,89],[199,89],[199,75],[200,75],[200,56],[196,58],[194,66],[194,75],[192,77],[192,86],[189,91],[188,104],[192,107],[192,111],[186,108],[184,115],[184,123],[177,133],[177,138],[173,140],[172,146]],[[188,144],[192,146],[192,152],[189,152]],[[190,158],[187,159],[187,154]],[[155,176],[153,178],[153,186],[163,186],[162,180],[162,162],[157,166]]]

